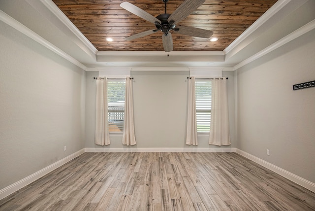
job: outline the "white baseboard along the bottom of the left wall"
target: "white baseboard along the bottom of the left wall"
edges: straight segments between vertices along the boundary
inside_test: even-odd
[[[47,167],[45,167],[42,170],[39,170],[38,172],[35,172],[34,174],[27,176],[3,189],[0,190],[0,200],[7,197],[8,195],[14,193],[15,191],[25,187],[26,185],[32,183],[33,181],[35,181],[36,179],[39,179],[40,177],[50,173],[51,171],[57,169],[58,167],[61,167],[63,164],[66,164],[67,162],[69,162],[70,160],[78,157],[79,155],[84,153],[84,149],[81,149]]]

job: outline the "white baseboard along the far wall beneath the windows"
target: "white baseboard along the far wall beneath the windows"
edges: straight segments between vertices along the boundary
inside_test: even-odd
[[[124,147],[124,148],[85,148],[84,152],[236,152],[236,148],[196,148],[196,147],[172,147],[172,148],[135,148],[135,147]]]

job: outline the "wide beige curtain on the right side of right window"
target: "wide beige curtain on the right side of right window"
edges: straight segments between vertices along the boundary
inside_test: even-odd
[[[230,145],[230,127],[227,104],[227,78],[212,82],[212,105],[209,144]]]

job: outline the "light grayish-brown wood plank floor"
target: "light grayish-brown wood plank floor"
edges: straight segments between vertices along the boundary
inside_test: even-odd
[[[315,193],[236,153],[84,153],[1,211],[315,210]]]

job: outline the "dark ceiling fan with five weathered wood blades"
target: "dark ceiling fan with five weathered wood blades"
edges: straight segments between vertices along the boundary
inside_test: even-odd
[[[120,4],[121,7],[126,9],[127,11],[135,14],[136,16],[143,18],[153,24],[155,24],[156,29],[148,30],[145,32],[141,32],[135,35],[131,35],[125,38],[125,40],[132,40],[136,38],[141,38],[143,36],[151,35],[158,31],[163,33],[162,42],[165,52],[170,52],[173,50],[173,39],[171,32],[196,36],[202,38],[210,38],[213,34],[212,31],[194,28],[194,27],[186,27],[186,26],[176,26],[179,22],[184,20],[191,12],[196,10],[201,4],[205,2],[205,0],[185,0],[172,14],[166,13],[166,3],[168,0],[163,0],[165,3],[165,13],[160,14],[157,17],[149,14],[143,9],[129,3],[128,1],[124,1]]]

